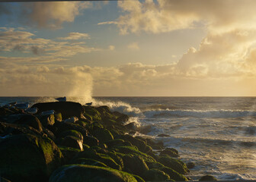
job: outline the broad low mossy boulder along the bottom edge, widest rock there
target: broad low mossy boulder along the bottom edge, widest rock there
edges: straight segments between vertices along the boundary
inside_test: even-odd
[[[50,177],[49,182],[136,182],[128,173],[110,168],[91,165],[65,165],[58,168]]]

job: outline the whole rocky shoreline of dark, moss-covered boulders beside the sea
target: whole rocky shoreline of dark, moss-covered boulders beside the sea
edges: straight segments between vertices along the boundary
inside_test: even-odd
[[[193,164],[161,142],[130,135],[135,130],[127,115],[76,102],[31,108],[37,113],[0,108],[1,181],[191,180],[185,175]],[[209,177],[202,180],[216,180]]]

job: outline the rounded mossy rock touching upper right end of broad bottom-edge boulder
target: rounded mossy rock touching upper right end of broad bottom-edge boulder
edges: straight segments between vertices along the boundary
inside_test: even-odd
[[[142,177],[149,167],[143,158],[137,155],[123,155],[123,170],[131,174],[136,174]]]

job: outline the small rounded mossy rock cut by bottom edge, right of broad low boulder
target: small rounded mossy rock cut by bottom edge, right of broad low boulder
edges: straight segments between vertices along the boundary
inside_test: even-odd
[[[144,180],[155,180],[155,181],[165,181],[165,180],[169,180],[170,177],[168,174],[166,174],[164,171],[160,171],[158,169],[149,169],[149,171],[146,171],[143,174],[143,179]]]

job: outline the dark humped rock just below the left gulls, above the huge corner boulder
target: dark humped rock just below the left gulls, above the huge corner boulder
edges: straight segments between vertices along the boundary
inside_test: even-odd
[[[14,122],[15,124],[26,124],[27,126],[33,127],[38,131],[43,131],[42,124],[39,119],[34,115],[23,115],[18,121]]]

